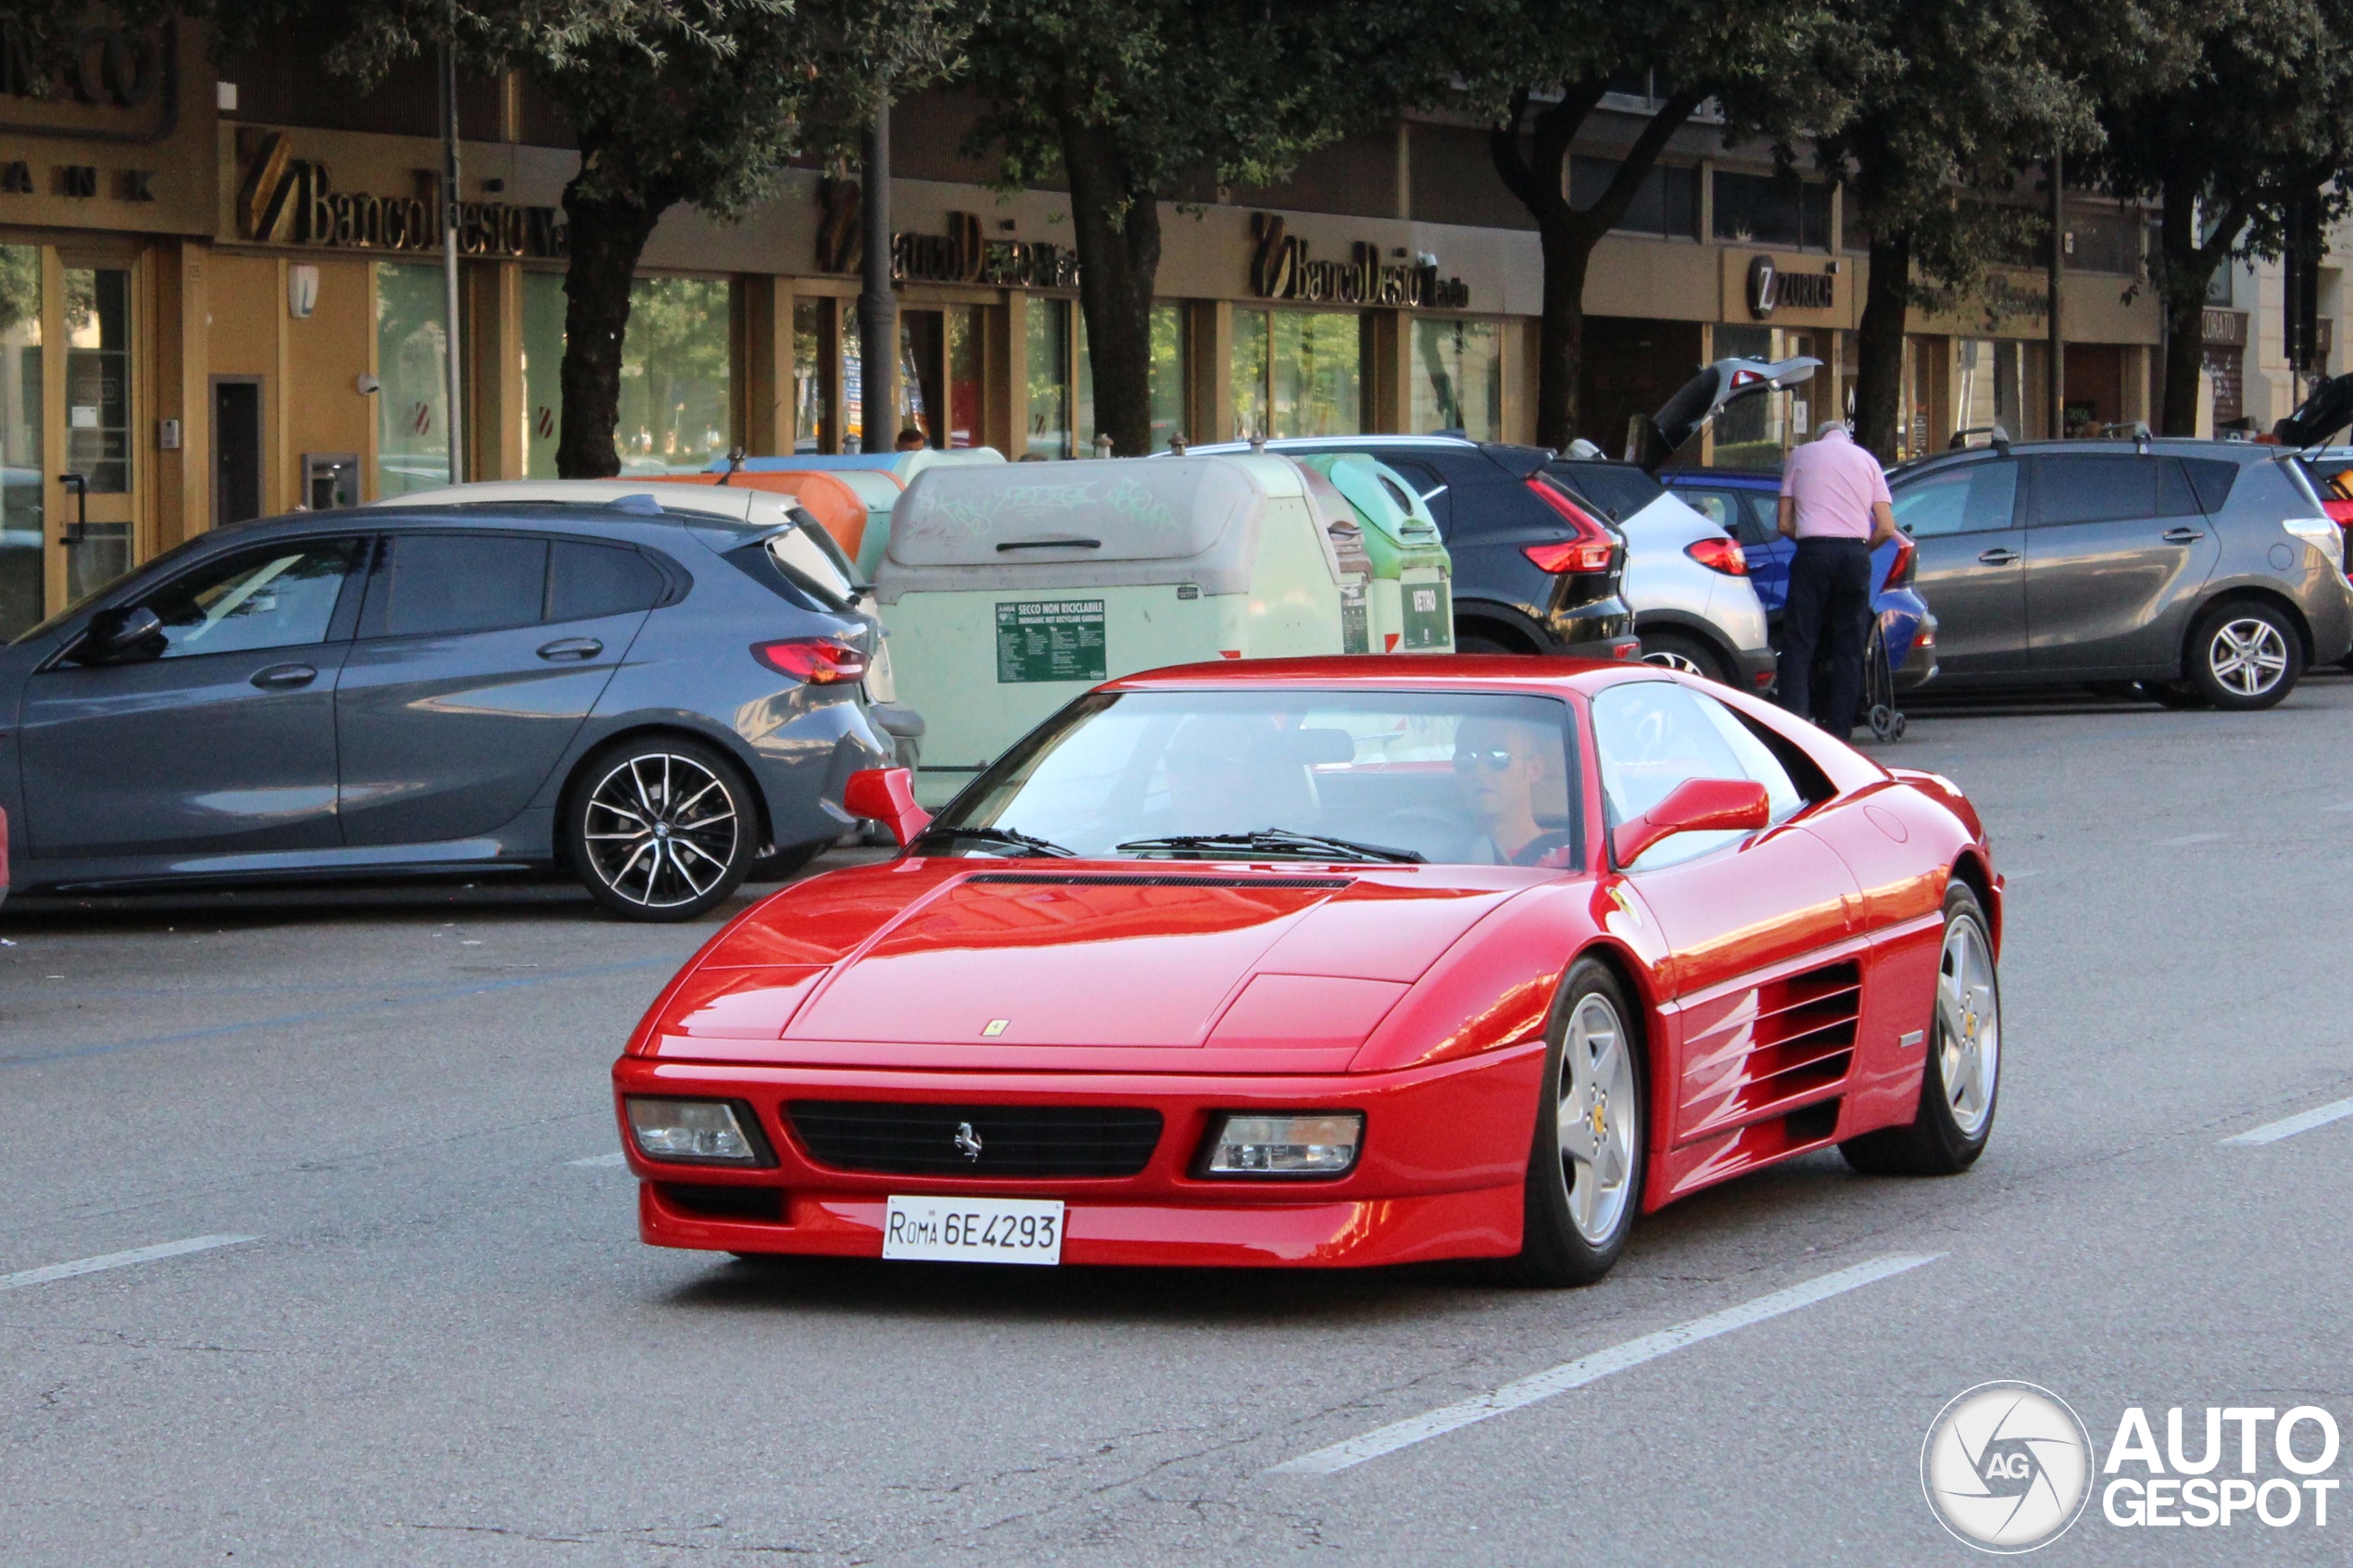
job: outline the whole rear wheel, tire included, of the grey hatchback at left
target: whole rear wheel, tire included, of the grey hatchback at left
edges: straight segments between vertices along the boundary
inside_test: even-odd
[[[718,748],[685,736],[619,741],[581,769],[565,849],[581,886],[624,919],[694,919],[751,872],[760,809]]]

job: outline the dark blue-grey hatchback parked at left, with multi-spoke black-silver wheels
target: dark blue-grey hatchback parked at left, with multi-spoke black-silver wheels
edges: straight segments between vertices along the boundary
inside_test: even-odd
[[[205,534],[0,646],[16,889],[558,867],[699,914],[892,755],[873,623],[774,534],[652,496]]]

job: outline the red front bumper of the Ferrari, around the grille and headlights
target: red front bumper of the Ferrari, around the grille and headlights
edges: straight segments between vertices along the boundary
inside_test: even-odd
[[[1176,1056],[1176,1053],[1172,1053]],[[621,1058],[619,1095],[748,1105],[774,1152],[765,1168],[647,1161],[638,1234],[652,1246],[878,1258],[889,1197],[1061,1199],[1073,1265],[1365,1267],[1504,1258],[1520,1248],[1541,1041],[1435,1067],[1377,1074],[1127,1074],[767,1067]],[[819,1164],[793,1100],[958,1107],[1148,1107],[1162,1131],[1148,1164],[1115,1178],[896,1175]],[[1202,1178],[1195,1154],[1217,1117],[1249,1110],[1358,1110],[1365,1145],[1327,1180]]]

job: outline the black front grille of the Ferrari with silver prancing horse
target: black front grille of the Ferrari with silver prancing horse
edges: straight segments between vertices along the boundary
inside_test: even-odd
[[[1160,1143],[1160,1112],[1118,1105],[793,1100],[784,1110],[816,1164],[892,1175],[1134,1175]]]

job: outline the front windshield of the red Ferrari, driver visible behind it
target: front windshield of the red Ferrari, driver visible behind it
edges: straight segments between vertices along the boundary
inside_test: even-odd
[[[960,795],[925,851],[1577,870],[1569,736],[1567,703],[1537,696],[1099,691]]]

